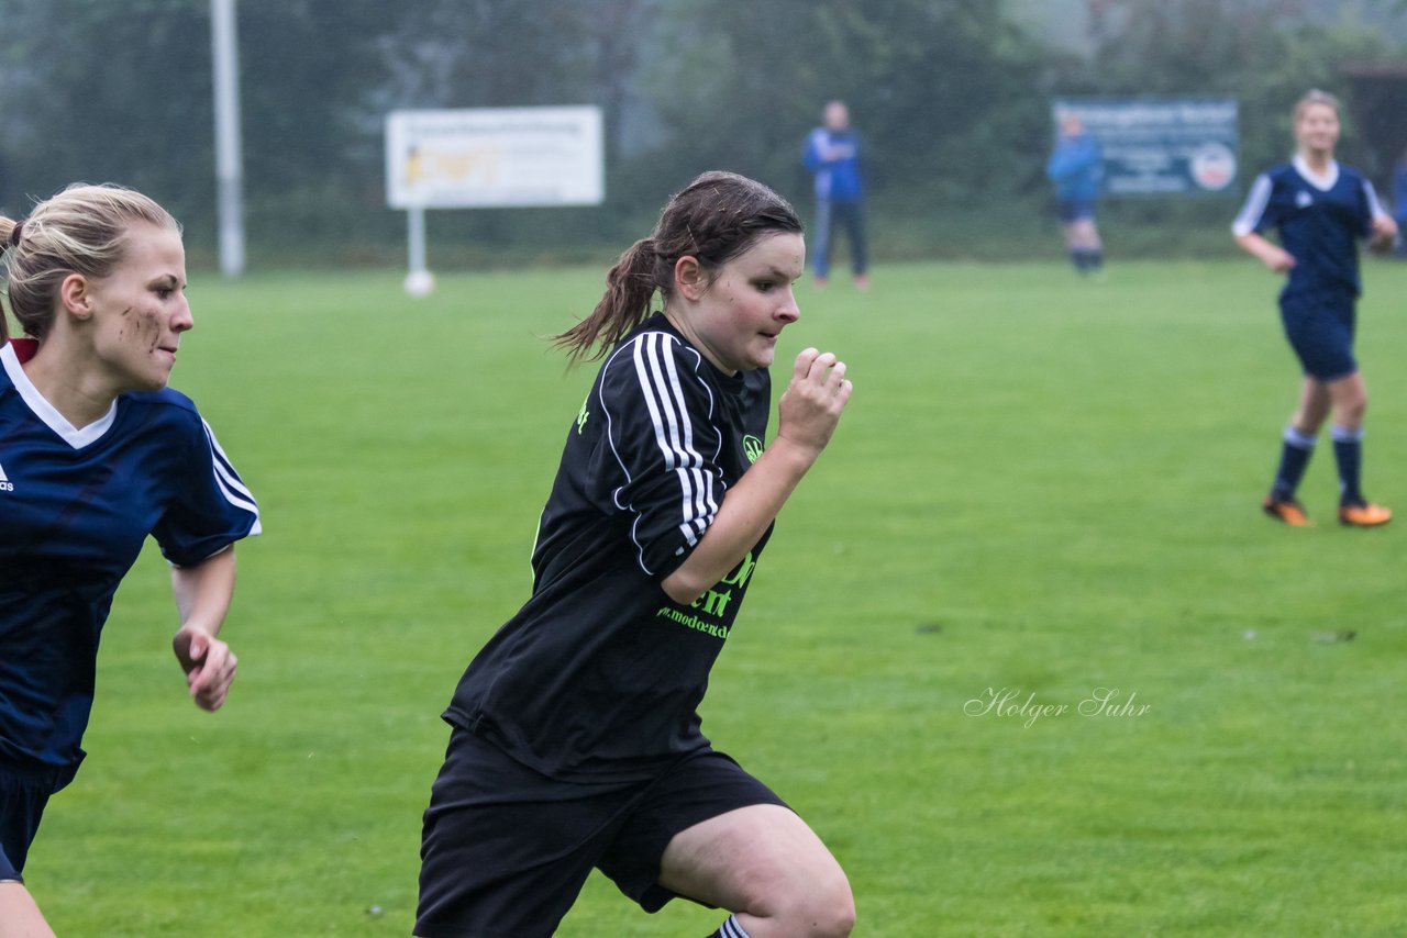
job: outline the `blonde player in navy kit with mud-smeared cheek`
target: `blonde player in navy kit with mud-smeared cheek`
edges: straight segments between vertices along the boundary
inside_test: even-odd
[[[0,937],[52,934],[20,872],[72,780],[98,633],[146,536],[172,567],[176,658],[218,709],[235,655],[217,638],[234,541],[259,512],[210,428],[166,388],[191,328],[180,228],[156,203],[76,186],[0,218]]]

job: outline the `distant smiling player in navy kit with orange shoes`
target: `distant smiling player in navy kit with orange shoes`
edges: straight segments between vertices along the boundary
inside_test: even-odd
[[[1265,510],[1289,525],[1309,525],[1294,498],[1324,418],[1332,412],[1339,475],[1338,518],[1372,527],[1392,512],[1370,503],[1359,485],[1368,392],[1354,359],[1355,302],[1361,291],[1358,239],[1387,248],[1397,225],[1358,170],[1334,159],[1338,100],[1310,91],[1294,105],[1296,153],[1256,177],[1231,231],[1237,243],[1275,273],[1289,274],[1280,319],[1304,367],[1300,402],[1285,429],[1280,465]],[[1280,245],[1259,232],[1279,229]]]

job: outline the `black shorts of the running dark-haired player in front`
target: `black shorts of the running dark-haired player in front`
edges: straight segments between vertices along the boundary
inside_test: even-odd
[[[715,750],[643,782],[547,778],[456,727],[431,793],[421,844],[421,938],[552,935],[592,868],[646,911],[670,840],[777,795]]]

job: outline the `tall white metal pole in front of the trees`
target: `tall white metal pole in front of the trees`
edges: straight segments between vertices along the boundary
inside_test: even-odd
[[[235,0],[210,0],[210,46],[215,86],[215,186],[219,270],[245,271],[243,160],[239,139],[239,52]]]

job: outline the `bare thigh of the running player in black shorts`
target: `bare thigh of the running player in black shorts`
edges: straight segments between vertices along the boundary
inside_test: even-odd
[[[740,807],[678,833],[660,861],[660,885],[756,915],[850,901],[840,863],[806,821],[779,804]]]

